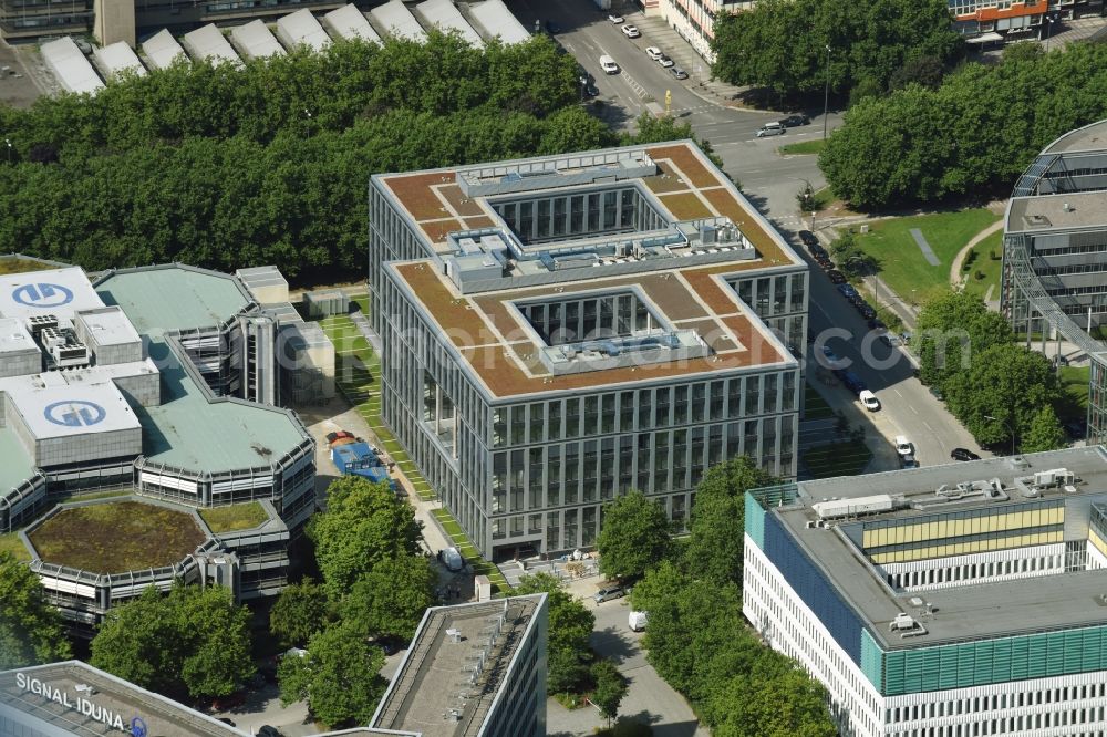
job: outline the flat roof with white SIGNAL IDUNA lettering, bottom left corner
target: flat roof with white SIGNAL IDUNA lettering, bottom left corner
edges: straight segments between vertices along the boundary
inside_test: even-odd
[[[56,692],[58,697],[48,698],[44,687],[49,688],[50,696]],[[81,699],[101,708],[84,716],[77,708]],[[104,714],[105,710],[108,714]],[[97,714],[102,718],[94,718]],[[145,723],[147,734],[158,737],[242,737],[247,734],[79,661],[0,672],[0,716],[20,722],[20,717],[34,717],[77,737],[117,736],[118,724],[130,731],[131,719],[136,716]]]

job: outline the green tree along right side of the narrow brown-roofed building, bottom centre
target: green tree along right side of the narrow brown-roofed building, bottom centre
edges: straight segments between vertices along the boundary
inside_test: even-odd
[[[592,653],[588,641],[596,626],[596,616],[549,573],[524,575],[515,593],[548,595],[547,684],[550,692],[583,691],[590,677],[588,665]]]

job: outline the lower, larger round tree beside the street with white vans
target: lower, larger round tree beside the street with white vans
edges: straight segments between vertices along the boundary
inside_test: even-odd
[[[1024,437],[1062,392],[1049,360],[1015,343],[973,353],[972,369],[945,382],[950,412],[981,445],[1010,443],[1012,432]]]

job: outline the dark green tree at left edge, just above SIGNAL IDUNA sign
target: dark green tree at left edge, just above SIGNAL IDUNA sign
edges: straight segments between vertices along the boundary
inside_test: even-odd
[[[0,671],[70,657],[61,615],[46,602],[39,577],[0,552]]]

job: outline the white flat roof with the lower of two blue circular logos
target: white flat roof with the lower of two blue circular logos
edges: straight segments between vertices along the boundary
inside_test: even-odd
[[[55,373],[41,376],[51,380]],[[33,391],[9,393],[8,406],[14,407],[38,440],[139,427],[131,405],[112,382],[51,382]]]

